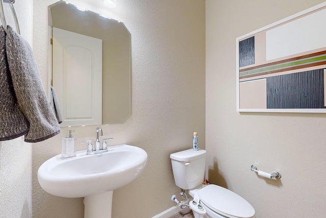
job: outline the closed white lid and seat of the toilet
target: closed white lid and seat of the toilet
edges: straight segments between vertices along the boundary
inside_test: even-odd
[[[229,189],[218,185],[207,185],[197,190],[203,204],[216,213],[230,218],[252,218],[255,217],[255,209]]]

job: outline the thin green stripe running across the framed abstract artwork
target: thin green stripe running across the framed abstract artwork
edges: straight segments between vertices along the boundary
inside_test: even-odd
[[[314,62],[320,62],[326,60],[326,55],[321,55],[321,56],[316,56],[312,58],[306,58],[302,60],[296,60],[296,61],[290,61],[282,64],[275,64],[271,66],[266,66],[266,67],[261,67],[257,69],[252,69],[252,70],[246,70],[242,71],[239,73],[239,76],[248,76],[252,74],[259,74],[262,72],[268,72],[271,70],[276,70],[276,69],[282,69],[282,68],[288,68],[288,67],[293,67],[293,66],[300,66],[300,65],[305,65],[307,63],[314,63]]]

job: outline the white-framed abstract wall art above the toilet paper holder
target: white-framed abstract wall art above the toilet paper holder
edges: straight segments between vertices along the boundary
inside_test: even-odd
[[[326,113],[326,2],[236,38],[238,112]]]

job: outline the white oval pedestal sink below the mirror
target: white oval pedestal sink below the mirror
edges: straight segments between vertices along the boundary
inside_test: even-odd
[[[57,155],[38,169],[41,187],[53,196],[84,198],[85,218],[111,218],[113,190],[122,187],[144,170],[147,153],[138,147],[121,144],[105,153],[63,159]]]

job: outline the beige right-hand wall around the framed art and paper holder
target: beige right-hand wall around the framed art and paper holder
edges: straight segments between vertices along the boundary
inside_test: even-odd
[[[235,38],[321,2],[206,0],[209,179],[247,199],[257,218],[325,216],[326,115],[236,112]],[[257,177],[253,163],[282,179]]]

